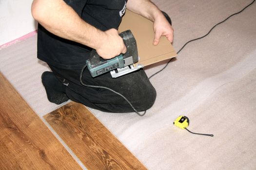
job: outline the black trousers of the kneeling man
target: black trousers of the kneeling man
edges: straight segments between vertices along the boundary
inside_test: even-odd
[[[62,69],[50,65],[49,67],[61,83],[66,85],[65,93],[70,100],[104,112],[134,112],[130,104],[118,94],[104,88],[81,85],[79,80],[81,69]],[[109,72],[92,78],[86,68],[82,82],[86,85],[105,86],[117,91],[138,111],[149,109],[156,100],[156,90],[143,69],[118,78],[112,78]]]

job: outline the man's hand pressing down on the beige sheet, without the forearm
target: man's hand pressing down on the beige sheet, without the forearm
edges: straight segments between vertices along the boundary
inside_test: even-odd
[[[155,32],[154,45],[158,45],[161,36],[166,36],[171,43],[173,42],[174,29],[163,15],[159,14],[155,19],[153,29]]]

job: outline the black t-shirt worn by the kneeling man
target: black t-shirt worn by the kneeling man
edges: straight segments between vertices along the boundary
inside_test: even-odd
[[[127,0],[64,0],[87,23],[101,31],[118,29]],[[92,49],[38,26],[38,58],[64,69],[80,69]]]

